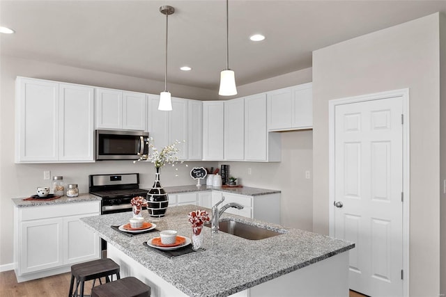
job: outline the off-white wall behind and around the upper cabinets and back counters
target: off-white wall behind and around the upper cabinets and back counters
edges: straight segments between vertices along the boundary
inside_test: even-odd
[[[43,180],[43,170],[52,175],[62,175],[64,182],[79,184],[79,191],[88,191],[88,175],[116,172],[141,173],[141,187],[152,186],[154,170],[146,163],[133,164],[131,161],[101,161],[96,163],[74,164],[15,164],[14,163],[14,122],[15,122],[15,77],[35,77],[82,83],[91,86],[118,88],[144,93],[159,93],[164,83],[148,81],[135,77],[67,67],[51,63],[29,61],[9,56],[0,59],[0,271],[12,268],[13,262],[13,203],[11,198],[20,198],[34,193],[36,186],[49,183]],[[311,69],[292,72],[281,77],[266,79],[245,86],[239,86],[239,95],[251,95],[266,90],[294,86],[311,81]],[[217,99],[217,91],[201,90],[187,86],[169,85],[172,95],[190,99]],[[312,228],[312,179],[305,179],[302,170],[311,170],[312,132],[288,132],[282,136],[282,163],[238,163],[231,169],[241,177],[245,186],[259,186],[284,191],[282,195],[282,216],[284,223],[291,227]],[[295,164],[294,164],[295,163]],[[252,164],[252,165],[251,165]],[[162,186],[195,184],[190,178],[190,168],[194,166],[217,166],[216,162],[189,162],[185,167],[178,165],[178,171],[169,166],[162,168]],[[253,172],[264,172],[257,176],[246,177],[247,168]],[[298,168],[298,171],[295,169]],[[277,172],[279,170],[280,172]],[[240,172],[240,173],[238,173]],[[264,178],[270,173],[270,178]],[[178,175],[178,176],[176,176]],[[292,178],[292,180],[291,180]],[[289,182],[286,182],[289,180]],[[302,188],[300,188],[302,187]],[[284,206],[287,206],[284,208]],[[295,209],[293,208],[295,207]]]

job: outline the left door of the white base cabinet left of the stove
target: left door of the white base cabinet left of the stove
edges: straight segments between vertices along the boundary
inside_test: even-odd
[[[21,223],[20,274],[62,266],[62,236],[62,218]]]

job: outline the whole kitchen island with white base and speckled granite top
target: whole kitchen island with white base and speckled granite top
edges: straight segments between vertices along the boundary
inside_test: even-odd
[[[190,237],[187,214],[193,205],[171,207],[164,218],[144,217],[157,230],[178,230]],[[210,211],[210,209],[207,209]],[[223,214],[250,225],[283,233],[262,240],[247,240],[203,228],[204,248],[169,258],[143,245],[158,231],[132,237],[111,225],[123,225],[131,212],[81,218],[108,244],[107,257],[121,266],[121,277],[132,275],[152,289],[152,296],[348,296],[348,250],[353,243],[285,228],[272,223]]]

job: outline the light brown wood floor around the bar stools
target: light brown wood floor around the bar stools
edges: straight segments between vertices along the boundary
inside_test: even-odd
[[[0,273],[0,296],[1,297],[63,297],[68,296],[70,289],[71,273],[49,276],[38,280],[20,282],[17,284],[14,271]],[[85,294],[90,295],[93,281],[85,285]],[[366,297],[355,291],[350,291],[349,297]]]

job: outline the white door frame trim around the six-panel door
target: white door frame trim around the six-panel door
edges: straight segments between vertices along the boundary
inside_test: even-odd
[[[409,294],[409,230],[410,230],[410,142],[409,142],[409,89],[391,90],[381,93],[373,93],[341,99],[333,99],[328,102],[328,205],[329,232],[334,236],[334,108],[341,104],[351,104],[392,97],[401,97],[403,101],[403,296]]]

